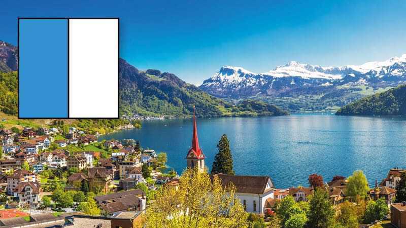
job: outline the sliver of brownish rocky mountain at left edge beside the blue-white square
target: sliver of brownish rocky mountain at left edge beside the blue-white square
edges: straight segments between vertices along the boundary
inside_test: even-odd
[[[0,72],[17,70],[17,47],[0,41]]]

